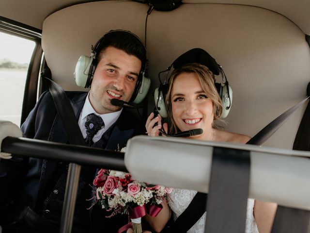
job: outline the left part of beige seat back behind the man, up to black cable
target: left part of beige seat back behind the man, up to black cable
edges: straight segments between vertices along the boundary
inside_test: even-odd
[[[43,24],[42,46],[53,79],[67,90],[78,89],[73,72],[79,56],[89,56],[91,45],[111,29],[129,30],[142,39],[145,20],[142,12],[147,9],[137,2],[91,2],[47,17]]]

